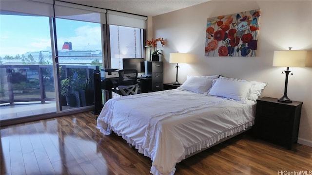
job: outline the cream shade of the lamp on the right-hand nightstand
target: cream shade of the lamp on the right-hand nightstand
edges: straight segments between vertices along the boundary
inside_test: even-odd
[[[275,67],[305,67],[308,51],[274,51],[273,66]]]

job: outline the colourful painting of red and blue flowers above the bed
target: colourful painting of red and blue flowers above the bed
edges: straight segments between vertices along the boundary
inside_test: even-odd
[[[205,56],[256,56],[260,9],[207,18]]]

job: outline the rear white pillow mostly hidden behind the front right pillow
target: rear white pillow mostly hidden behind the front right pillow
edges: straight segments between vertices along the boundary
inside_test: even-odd
[[[220,76],[219,79],[249,82],[243,79],[228,78],[228,77],[223,77],[223,76]],[[261,92],[267,86],[267,83],[256,82],[256,81],[251,81],[251,83],[252,83],[252,87],[250,88],[250,95],[248,99],[252,101],[256,101],[261,96]],[[214,83],[213,83],[213,86],[214,86]]]

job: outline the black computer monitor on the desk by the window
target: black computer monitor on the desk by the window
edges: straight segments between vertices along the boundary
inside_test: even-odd
[[[122,65],[123,69],[136,69],[138,74],[137,77],[145,75],[144,58],[123,58]]]

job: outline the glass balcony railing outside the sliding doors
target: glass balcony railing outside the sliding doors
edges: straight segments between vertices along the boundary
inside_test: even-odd
[[[79,77],[81,84],[92,79],[96,69],[97,66],[62,65],[59,66],[59,80]],[[93,86],[89,88],[94,89]],[[56,101],[53,66],[0,65],[0,103],[33,101]]]

